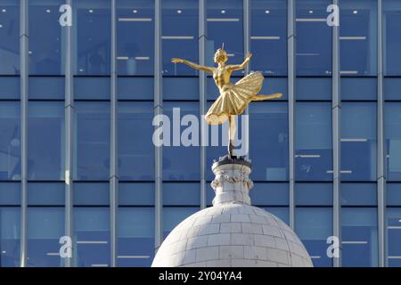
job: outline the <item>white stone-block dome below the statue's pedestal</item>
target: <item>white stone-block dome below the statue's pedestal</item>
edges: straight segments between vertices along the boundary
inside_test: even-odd
[[[291,228],[261,208],[224,204],[205,208],[178,224],[152,267],[311,267]]]

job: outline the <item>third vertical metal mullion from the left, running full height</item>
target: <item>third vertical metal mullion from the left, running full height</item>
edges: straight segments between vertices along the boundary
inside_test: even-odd
[[[110,62],[110,266],[117,266],[117,216],[119,211],[118,164],[118,94],[117,94],[117,30],[116,0],[111,0],[111,62]]]

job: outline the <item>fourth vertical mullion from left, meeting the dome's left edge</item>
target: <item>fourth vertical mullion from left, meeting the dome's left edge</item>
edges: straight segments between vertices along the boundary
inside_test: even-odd
[[[162,97],[162,74],[161,74],[161,0],[155,0],[154,6],[154,116],[163,114],[163,97]],[[154,244],[157,250],[163,240],[163,224],[162,224],[162,211],[163,211],[163,199],[162,199],[162,146],[155,146],[155,232],[154,232]]]

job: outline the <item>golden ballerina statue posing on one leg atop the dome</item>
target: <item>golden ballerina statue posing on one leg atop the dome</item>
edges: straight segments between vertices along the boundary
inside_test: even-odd
[[[230,81],[232,72],[234,70],[244,69],[248,62],[250,62],[251,57],[252,54],[248,53],[245,61],[241,64],[225,64],[228,57],[222,47],[217,50],[214,56],[217,68],[201,66],[183,59],[174,58],[171,60],[175,63],[184,63],[192,67],[192,69],[213,73],[213,78],[215,79],[220,96],[218,96],[217,100],[210,107],[205,119],[209,125],[223,124],[228,119],[230,125],[228,131],[228,153],[231,157],[233,157],[233,142],[236,132],[235,115],[240,115],[251,101],[264,101],[282,97],[282,94],[258,95],[264,80],[261,72],[252,72],[246,77],[241,78],[241,80],[235,84]]]

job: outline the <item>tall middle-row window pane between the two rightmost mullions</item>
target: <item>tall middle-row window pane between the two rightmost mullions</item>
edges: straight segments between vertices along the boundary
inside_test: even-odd
[[[376,180],[376,104],[341,106],[341,179]]]

